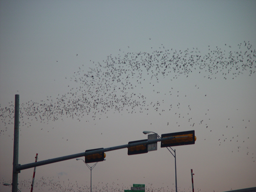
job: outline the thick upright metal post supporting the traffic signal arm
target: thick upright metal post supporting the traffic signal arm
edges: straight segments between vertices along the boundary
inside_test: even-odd
[[[14,108],[14,138],[13,138],[13,161],[12,161],[12,192],[18,190],[18,172],[16,165],[18,165],[18,135],[19,135],[19,94],[15,94],[15,108]]]

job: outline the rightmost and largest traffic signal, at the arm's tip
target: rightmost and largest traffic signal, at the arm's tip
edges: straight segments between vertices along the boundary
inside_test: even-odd
[[[173,136],[174,138],[161,141],[161,147],[194,144],[196,136],[194,130],[162,134],[161,138]]]

